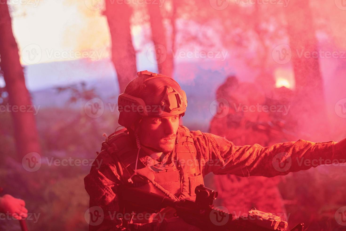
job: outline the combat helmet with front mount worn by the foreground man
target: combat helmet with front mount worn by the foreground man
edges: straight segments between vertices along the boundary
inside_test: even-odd
[[[137,75],[118,97],[120,125],[131,127],[144,116],[185,114],[188,100],[174,79],[150,71],[140,71]]]

